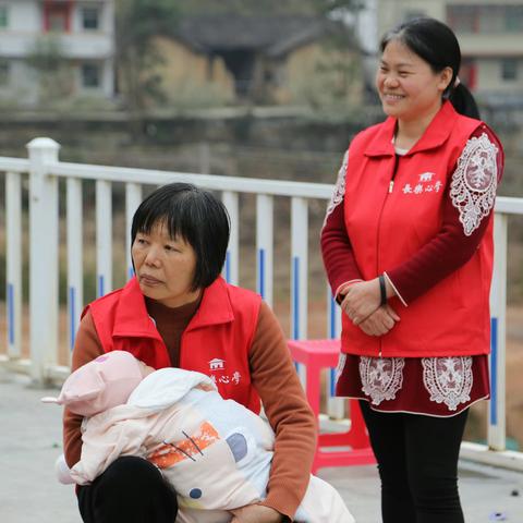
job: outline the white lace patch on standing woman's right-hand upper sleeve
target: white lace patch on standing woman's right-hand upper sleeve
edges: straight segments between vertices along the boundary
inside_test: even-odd
[[[470,236],[494,207],[498,148],[486,133],[469,139],[452,174],[450,198],[460,212],[463,232]]]

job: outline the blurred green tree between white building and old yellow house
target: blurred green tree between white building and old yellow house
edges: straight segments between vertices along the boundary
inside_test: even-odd
[[[162,63],[155,37],[173,36],[179,20],[180,11],[172,0],[117,1],[117,60],[129,109],[141,111],[149,99],[163,100],[155,73]]]

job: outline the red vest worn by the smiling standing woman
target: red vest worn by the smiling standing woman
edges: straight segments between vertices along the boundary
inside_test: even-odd
[[[399,158],[391,143],[396,120],[358,134],[349,148],[344,217],[357,266],[365,280],[408,260],[438,233],[446,188],[470,135],[482,122],[443,104],[425,134]],[[343,314],[342,350],[377,356],[486,354],[490,350],[489,290],[492,222],[478,250],[460,269],[404,307],[391,306],[401,321],[382,337],[368,337]]]

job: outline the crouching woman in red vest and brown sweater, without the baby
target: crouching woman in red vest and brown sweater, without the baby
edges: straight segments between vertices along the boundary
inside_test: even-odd
[[[315,418],[273,313],[259,295],[220,276],[229,243],[223,205],[194,185],[165,185],[139,205],[131,236],[135,277],[86,307],[72,369],[123,350],[154,368],[204,373],[223,398],[256,413],[263,404],[276,433],[267,498],[234,511],[232,521],[292,520],[309,481]],[[69,466],[80,460],[81,424],[65,410]],[[85,523],[173,523],[177,518],[175,494],[142,458],[117,459],[92,485],[80,487],[77,497]],[[227,513],[218,519],[229,521]],[[204,514],[181,510],[177,521],[200,522]]]

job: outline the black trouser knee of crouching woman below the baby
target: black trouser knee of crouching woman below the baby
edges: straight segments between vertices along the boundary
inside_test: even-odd
[[[160,471],[142,458],[119,458],[92,485],[78,488],[85,523],[173,523],[174,489]]]

